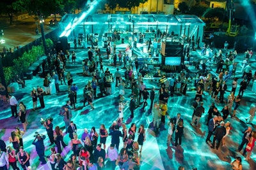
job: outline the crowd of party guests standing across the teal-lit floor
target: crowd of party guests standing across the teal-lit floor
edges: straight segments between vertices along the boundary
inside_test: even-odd
[[[160,34],[160,32],[159,32]],[[150,45],[149,45],[150,46]],[[86,82],[83,89],[83,107],[86,103],[91,106],[92,110],[95,108],[93,101],[99,97],[109,96],[113,94],[113,89],[118,89],[118,119],[113,120],[111,127],[106,129],[104,124],[100,127],[91,127],[90,131],[88,129],[83,129],[83,134],[81,137],[78,135],[81,132],[80,129],[76,127],[76,120],[72,120],[72,111],[76,110],[77,103],[77,87],[76,80],[73,80],[72,73],[68,71],[67,64],[77,64],[76,63],[76,52],[69,52],[68,50],[63,53],[56,52],[55,49],[49,52],[47,56],[47,61],[43,64],[43,74],[44,78],[44,89],[40,86],[33,88],[31,90],[31,98],[33,101],[33,111],[37,109],[37,99],[40,100],[41,108],[45,108],[44,95],[51,95],[51,90],[49,90],[49,85],[54,82],[56,92],[60,92],[59,81],[62,81],[66,85],[67,80],[67,91],[69,100],[67,103],[61,107],[60,115],[63,117],[63,122],[65,122],[65,132],[63,132],[58,125],[54,127],[52,124],[52,118],[47,118],[47,120],[42,120],[42,124],[45,126],[47,136],[50,141],[51,154],[47,155],[45,158],[45,145],[44,145],[44,134],[35,134],[35,140],[33,145],[36,147],[36,153],[39,156],[41,164],[46,164],[47,161],[50,162],[52,169],[115,169],[118,166],[120,169],[140,169],[140,154],[143,152],[143,143],[146,141],[146,125],[136,125],[131,124],[129,129],[127,125],[124,124],[123,120],[124,108],[129,107],[131,115],[129,118],[134,118],[134,110],[140,108],[141,111],[145,111],[148,105],[147,101],[150,100],[150,107],[148,114],[152,114],[152,122],[154,125],[154,132],[157,134],[161,131],[167,130],[168,145],[173,145],[179,147],[182,145],[182,138],[184,136],[184,118],[181,113],[175,114],[175,116],[168,113],[168,108],[170,106],[170,98],[176,94],[186,95],[186,90],[188,89],[188,75],[185,72],[172,74],[170,78],[165,77],[164,81],[159,81],[159,90],[155,87],[152,89],[147,88],[143,76],[141,74],[136,74],[137,69],[134,62],[136,59],[131,59],[132,46],[127,45],[124,52],[116,52],[115,45],[108,43],[106,48],[106,58],[110,60],[110,66],[120,66],[124,64],[125,71],[119,70],[116,67],[115,73],[111,73],[107,67],[104,71],[104,56],[100,53],[100,49],[97,46],[90,48],[88,50],[88,59],[84,59],[82,62],[83,76],[91,76],[92,80]],[[151,47],[150,47],[151,48]],[[194,48],[194,46],[193,46]],[[149,50],[149,48],[148,48]],[[205,51],[207,51],[205,49]],[[211,50],[210,50],[211,52]],[[208,53],[209,60],[211,60],[211,53]],[[71,54],[70,54],[71,53]],[[69,59],[71,57],[71,60]],[[187,53],[188,55],[188,53]],[[204,55],[204,52],[202,53]],[[132,55],[133,57],[134,55]],[[116,62],[117,57],[119,62]],[[187,56],[188,57],[188,56]],[[200,63],[202,70],[198,73],[195,78],[195,100],[193,101],[191,113],[191,126],[195,128],[200,128],[202,124],[208,126],[208,134],[205,138],[207,145],[211,146],[213,149],[217,149],[225,145],[225,141],[228,138],[228,134],[232,129],[232,125],[227,120],[228,117],[237,118],[239,113],[237,113],[237,108],[241,101],[243,100],[243,94],[246,87],[250,85],[250,80],[256,79],[256,73],[252,75],[252,67],[250,66],[250,59],[252,57],[244,57],[247,61],[247,65],[243,69],[243,80],[240,82],[240,89],[237,94],[237,77],[235,76],[236,64],[234,60],[236,59],[235,53],[228,53],[226,55],[227,64],[223,68],[225,62],[223,62],[223,56],[219,52],[218,57],[214,60],[212,64],[216,63],[218,76],[214,76],[211,73],[207,73],[204,69],[205,62]],[[122,61],[124,63],[122,63]],[[199,65],[198,65],[199,66]],[[98,69],[100,67],[100,69]],[[49,71],[49,73],[47,73]],[[230,73],[231,71],[231,73]],[[205,74],[206,73],[206,74]],[[66,74],[66,75],[65,75]],[[162,76],[162,75],[161,75]],[[166,75],[164,75],[166,76]],[[233,78],[233,80],[231,80]],[[232,81],[232,87],[227,87],[227,81]],[[130,90],[125,90],[130,89]],[[228,89],[230,89],[230,94],[227,94]],[[150,90],[148,92],[148,90]],[[97,95],[99,92],[99,95]],[[131,92],[130,100],[125,101],[125,92]],[[205,120],[200,118],[205,113],[204,106],[204,95],[209,93],[212,97],[212,105],[209,107],[207,116]],[[235,95],[237,94],[237,95]],[[12,166],[13,169],[19,169],[17,167],[17,160],[13,157],[17,157],[20,166],[23,169],[29,169],[29,152],[24,150],[22,136],[27,131],[28,121],[26,120],[26,106],[24,103],[18,103],[15,96],[9,94],[10,106],[12,110],[12,117],[18,118],[23,127],[23,131],[17,127],[15,131],[10,135],[9,141],[12,143],[13,148],[6,146],[4,141],[1,140],[1,156],[0,160],[6,160],[5,164],[0,164],[0,167],[7,169],[7,167]],[[225,106],[221,111],[218,111],[216,103],[223,103]],[[19,109],[17,111],[17,106]],[[250,117],[248,117],[248,124],[252,124],[253,117],[255,115],[256,104],[253,103],[250,106]],[[204,121],[204,123],[202,123]],[[97,132],[95,129],[99,129]],[[121,130],[122,129],[122,130]],[[175,135],[173,134],[175,133]],[[63,138],[68,136],[69,141],[66,144]],[[174,136],[174,140],[173,140]],[[213,136],[213,139],[211,140]],[[107,138],[111,138],[111,144],[106,143]],[[122,147],[120,147],[120,139],[123,142]],[[243,131],[243,138],[237,151],[243,150],[243,154],[246,153],[246,160],[250,159],[254,143],[256,140],[256,131],[253,131],[251,126],[248,126]],[[212,141],[212,142],[211,142]],[[66,141],[67,142],[67,141]],[[55,146],[52,146],[55,145]],[[246,147],[244,147],[246,146]],[[63,153],[64,148],[70,147],[72,154],[70,157],[66,157],[66,153]],[[1,162],[1,161],[0,161]],[[2,161],[1,163],[4,163]],[[232,162],[233,169],[241,169],[241,157],[236,157],[236,160]],[[182,167],[180,167],[182,169]]]

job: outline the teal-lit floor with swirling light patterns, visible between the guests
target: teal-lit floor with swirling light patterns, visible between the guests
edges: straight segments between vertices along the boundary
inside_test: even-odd
[[[138,49],[135,50],[136,53],[142,53],[142,47],[139,46]],[[86,48],[87,50],[87,48]],[[86,59],[87,51],[85,49],[77,49],[75,50],[77,53],[76,64],[67,63],[67,71],[70,71],[74,78],[74,83],[76,83],[79,88],[77,94],[77,104],[76,110],[72,110],[72,120],[77,125],[77,134],[79,138],[81,138],[81,134],[83,133],[83,129],[91,129],[93,126],[99,132],[100,124],[105,124],[108,128],[113,120],[118,118],[118,89],[115,89],[115,92],[111,94],[111,96],[106,96],[102,98],[97,98],[93,101],[93,105],[95,106],[95,110],[90,110],[90,106],[83,107],[83,88],[84,85],[88,82],[88,80],[92,80],[91,77],[82,76],[82,60]],[[125,50],[125,45],[117,44],[116,50]],[[101,48],[101,53],[104,57],[104,70],[109,67],[111,73],[115,73],[116,67],[108,66],[108,60],[106,59],[106,49]],[[192,52],[191,56],[194,57],[194,60],[202,59],[200,56],[200,51]],[[237,57],[238,67],[237,71],[241,70],[241,60],[243,59],[242,55]],[[255,71],[255,63],[253,62],[253,73]],[[121,68],[121,67],[120,67]],[[189,67],[191,71],[195,71],[195,68],[192,66]],[[213,67],[214,71],[216,67]],[[125,69],[121,69],[121,71],[125,71]],[[241,81],[241,73],[236,74],[239,77],[237,81],[240,83]],[[228,80],[228,89],[231,89],[230,84],[232,80]],[[157,87],[157,81],[145,80],[147,88],[152,88],[153,86]],[[13,94],[18,101],[23,101],[26,104],[28,109],[28,131],[23,136],[24,148],[31,155],[31,166],[33,169],[51,169],[49,163],[44,166],[40,165],[38,160],[38,156],[35,152],[35,146],[31,145],[33,141],[33,134],[35,132],[39,132],[46,135],[45,128],[40,124],[40,118],[53,118],[53,125],[59,125],[60,127],[64,127],[65,124],[63,122],[63,117],[59,115],[60,108],[65,104],[68,100],[67,93],[67,85],[60,85],[60,93],[47,95],[44,97],[45,108],[40,109],[40,103],[38,101],[38,109],[36,111],[32,110],[33,103],[30,97],[30,92],[33,87],[37,87],[38,85],[43,86],[43,79],[40,77],[40,74],[37,74],[33,77],[33,80],[26,80],[25,89],[20,89],[18,92]],[[239,87],[237,87],[238,93]],[[156,136],[152,129],[152,115],[148,115],[147,111],[140,111],[140,108],[137,108],[134,113],[134,118],[130,121],[128,120],[129,115],[131,114],[128,106],[126,106],[124,110],[124,122],[127,120],[127,127],[131,126],[131,123],[135,123],[137,127],[140,124],[145,125],[147,127],[146,132],[146,141],[143,146],[143,150],[141,152],[141,169],[178,169],[179,166],[184,166],[185,169],[192,169],[192,167],[197,167],[198,169],[230,169],[230,162],[235,159],[236,156],[243,157],[241,153],[236,152],[236,149],[241,143],[242,139],[242,130],[248,126],[246,124],[245,118],[248,117],[248,109],[250,108],[250,104],[255,102],[255,93],[251,92],[252,90],[252,82],[249,87],[244,92],[244,97],[241,101],[241,106],[239,106],[237,110],[237,118],[231,119],[227,118],[228,121],[231,122],[232,130],[230,134],[227,136],[226,146],[220,146],[218,150],[212,149],[209,145],[205,143],[205,138],[207,136],[207,125],[205,125],[205,117],[207,115],[207,111],[209,110],[209,106],[211,105],[211,96],[204,92],[204,107],[205,113],[200,120],[200,127],[192,127],[189,125],[191,121],[191,115],[193,110],[191,108],[191,103],[195,97],[195,91],[188,91],[186,96],[175,93],[173,97],[170,97],[168,101],[168,113],[170,117],[175,116],[177,113],[181,113],[181,117],[184,118],[184,136],[182,136],[182,145],[174,146],[173,143],[171,145],[167,145],[167,135],[168,132],[164,129],[161,129],[159,135]],[[97,89],[97,93],[99,89]],[[225,99],[227,99],[229,92],[225,93]],[[125,90],[125,101],[129,101],[129,96],[131,95],[131,90]],[[157,98],[158,96],[156,96]],[[148,103],[150,101],[148,100]],[[149,104],[148,104],[149,105]],[[216,103],[218,110],[221,111],[224,104]],[[148,106],[146,107],[148,110]],[[12,146],[8,138],[10,133],[15,129],[15,127],[20,127],[22,129],[22,125],[17,122],[17,119],[10,118],[11,111],[9,104],[0,102],[0,136],[4,141],[6,141],[6,145]],[[256,124],[256,120],[253,120],[253,124]],[[254,125],[253,125],[254,127]],[[173,136],[174,137],[174,136]],[[138,138],[138,135],[136,135]],[[174,139],[174,138],[173,138]],[[212,140],[212,138],[211,138]],[[63,149],[61,155],[65,157],[65,160],[68,159],[69,155],[72,153],[70,147],[70,139],[68,135],[65,135],[64,138],[65,143],[68,143],[68,146]],[[111,137],[107,139],[107,147],[110,145]],[[45,155],[50,153],[49,139],[46,138],[44,141],[45,144]],[[122,144],[120,144],[120,148],[122,148]],[[243,159],[243,169],[256,169],[256,155],[255,149],[252,153],[252,159],[246,161]],[[244,158],[244,157],[243,157]]]

